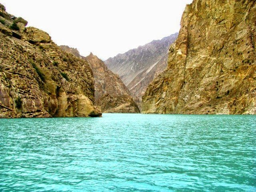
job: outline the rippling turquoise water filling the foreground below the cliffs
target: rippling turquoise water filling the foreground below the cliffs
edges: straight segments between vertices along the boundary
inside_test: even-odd
[[[0,119],[0,191],[256,191],[256,116]]]

